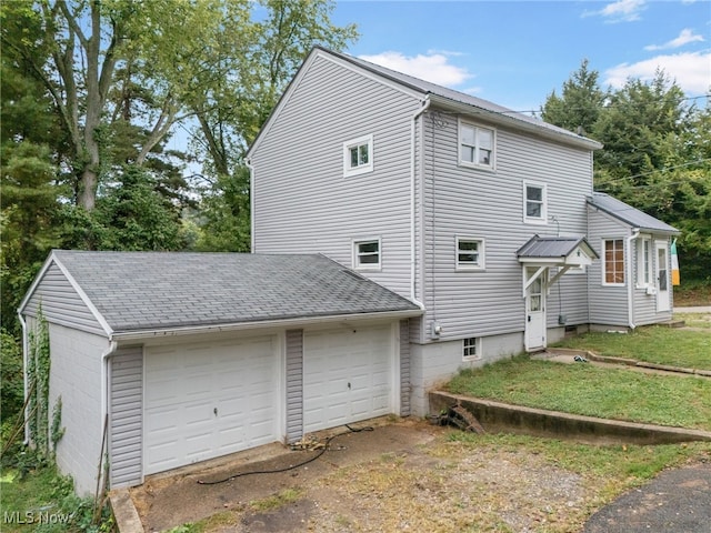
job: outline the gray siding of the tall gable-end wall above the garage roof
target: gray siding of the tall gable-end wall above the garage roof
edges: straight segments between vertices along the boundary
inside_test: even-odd
[[[380,238],[382,270],[363,274],[410,295],[411,117],[419,108],[411,95],[316,58],[251,154],[252,251],[319,252],[350,266],[353,240]],[[343,143],[368,134],[374,170],[344,178]]]

